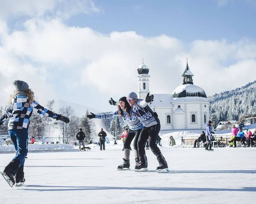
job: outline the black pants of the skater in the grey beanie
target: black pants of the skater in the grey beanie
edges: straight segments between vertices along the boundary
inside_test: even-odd
[[[140,136],[138,139],[138,151],[139,151],[139,159],[140,162],[147,165],[147,158],[145,154],[145,148],[144,145],[146,143],[146,140],[148,138],[148,145],[150,145],[150,148],[154,155],[157,157],[157,160],[159,164],[167,164],[165,161],[160,149],[158,148],[156,141],[157,136],[160,131],[160,124],[153,125],[151,127],[143,127],[142,131],[140,132]]]

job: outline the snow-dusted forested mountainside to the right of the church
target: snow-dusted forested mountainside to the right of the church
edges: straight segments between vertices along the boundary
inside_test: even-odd
[[[254,115],[256,114],[256,81],[208,98],[210,114],[216,115],[219,121],[238,120],[243,115]]]

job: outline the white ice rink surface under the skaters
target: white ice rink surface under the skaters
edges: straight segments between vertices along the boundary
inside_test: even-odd
[[[120,146],[120,145],[119,145]],[[120,146],[121,147],[121,146]],[[0,203],[254,203],[256,148],[161,148],[169,173],[117,171],[123,151],[31,152],[26,183],[10,188],[1,178]],[[14,154],[1,154],[4,166]]]

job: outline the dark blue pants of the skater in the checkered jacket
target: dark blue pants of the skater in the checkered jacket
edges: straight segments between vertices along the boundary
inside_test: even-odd
[[[28,155],[28,130],[9,130],[8,133],[16,149],[16,155],[6,169],[11,170],[16,177],[23,178],[25,157]]]

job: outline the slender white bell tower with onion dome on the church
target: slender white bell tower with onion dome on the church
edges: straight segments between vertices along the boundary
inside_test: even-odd
[[[139,91],[138,91],[138,98],[145,99],[146,94],[150,93],[150,88],[149,88],[149,82],[150,82],[150,75],[148,72],[150,69],[146,65],[143,64],[138,66],[138,85],[139,85]]]

